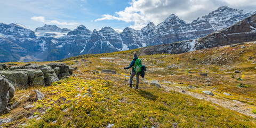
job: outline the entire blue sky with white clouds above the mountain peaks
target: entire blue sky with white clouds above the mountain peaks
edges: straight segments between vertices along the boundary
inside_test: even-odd
[[[0,0],[0,22],[20,23],[31,30],[44,24],[90,30],[109,26],[141,29],[155,25],[170,14],[186,22],[208,14],[219,6],[256,11],[255,0]]]

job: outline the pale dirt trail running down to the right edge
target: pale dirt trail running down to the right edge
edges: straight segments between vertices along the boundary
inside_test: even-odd
[[[165,85],[161,85],[163,87],[163,89],[167,90],[167,91],[175,91],[175,92],[181,92],[182,89],[178,88],[178,87],[171,87],[171,86],[165,86]],[[229,99],[219,99],[219,98],[214,98],[214,96],[210,96],[210,95],[206,95],[206,94],[199,94],[199,93],[195,93],[195,92],[190,92],[185,90],[185,92],[183,94],[186,95],[190,95],[191,97],[197,98],[197,99],[203,99],[205,101],[209,101],[212,103],[215,103],[219,106],[222,106],[224,108],[228,108],[230,110],[234,110],[237,111],[238,113],[256,118],[256,114],[252,113],[252,107],[251,105],[248,105],[247,103],[243,103],[237,100],[229,100]]]

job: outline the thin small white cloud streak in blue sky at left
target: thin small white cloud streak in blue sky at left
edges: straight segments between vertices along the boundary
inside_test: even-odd
[[[31,17],[30,19],[34,20],[34,21],[38,21],[38,22],[43,22],[48,25],[51,25],[51,24],[53,24],[53,25],[70,25],[70,26],[78,25],[78,23],[76,23],[76,22],[67,23],[67,22],[59,22],[57,20],[46,21],[44,17]]]

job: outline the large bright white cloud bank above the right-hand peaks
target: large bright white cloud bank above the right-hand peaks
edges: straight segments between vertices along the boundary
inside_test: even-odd
[[[250,3],[250,4],[249,4]],[[119,20],[131,23],[131,28],[141,29],[149,21],[158,25],[170,14],[177,15],[186,22],[191,22],[197,17],[214,11],[219,6],[229,6],[243,9],[246,6],[256,6],[255,0],[132,0],[130,6],[123,11],[115,12],[114,15],[103,14],[102,20]]]

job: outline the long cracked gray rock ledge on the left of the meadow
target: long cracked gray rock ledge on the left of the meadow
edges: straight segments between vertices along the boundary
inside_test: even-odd
[[[59,81],[59,78],[71,76],[74,68],[65,63],[50,63],[38,66],[37,64],[27,64],[25,66],[11,66],[10,70],[0,70],[10,83],[15,87],[26,87],[28,85],[51,85]]]

